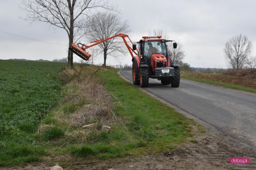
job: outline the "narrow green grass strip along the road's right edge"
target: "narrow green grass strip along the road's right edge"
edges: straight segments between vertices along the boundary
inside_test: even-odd
[[[194,78],[194,77],[188,77],[188,76],[181,76],[181,78],[192,80],[192,81],[198,81],[198,82],[202,82],[202,83],[213,84],[213,85],[220,85],[220,86],[228,87],[228,88],[231,88],[231,89],[237,89],[237,90],[242,90],[242,91],[248,91],[248,92],[256,93],[256,89],[252,89],[252,88],[249,88],[249,87],[244,87],[244,86],[241,86],[241,85],[235,85],[235,84],[230,84],[230,83],[223,83],[223,82],[206,80],[206,79],[200,79],[200,78]]]

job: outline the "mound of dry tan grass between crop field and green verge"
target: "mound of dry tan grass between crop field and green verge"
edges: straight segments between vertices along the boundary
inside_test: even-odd
[[[66,129],[67,143],[84,144],[90,142],[89,134],[99,134],[103,125],[111,126],[122,122],[116,119],[114,109],[117,103],[112,102],[113,96],[107,93],[104,86],[96,78],[99,72],[113,69],[112,67],[88,66],[63,69],[58,78],[64,85],[64,96],[59,109],[47,115],[48,123],[42,123],[38,133],[44,134],[54,127]],[[54,123],[49,125],[49,122]],[[82,125],[96,123],[90,129],[81,128]],[[47,124],[47,125],[45,125]]]

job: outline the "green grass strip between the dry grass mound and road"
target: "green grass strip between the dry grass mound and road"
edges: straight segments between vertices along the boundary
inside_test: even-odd
[[[173,149],[192,135],[191,120],[124,81],[116,70],[101,72],[100,78],[106,82],[108,92],[115,96],[114,100],[122,103],[115,114],[129,119],[118,125],[122,135],[113,132],[126,153],[139,152],[140,147],[152,153]]]

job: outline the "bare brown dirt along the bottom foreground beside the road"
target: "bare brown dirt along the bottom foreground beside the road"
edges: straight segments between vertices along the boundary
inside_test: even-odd
[[[233,138],[220,133],[205,133],[198,127],[193,127],[195,136],[192,141],[181,144],[177,150],[167,150],[159,155],[144,153],[142,156],[128,156],[126,158],[100,160],[94,157],[75,158],[63,156],[56,162],[50,159],[43,163],[23,164],[19,166],[0,168],[1,170],[46,170],[58,164],[64,170],[75,169],[256,169],[255,148],[243,144]],[[229,164],[230,157],[250,158],[249,164]]]

